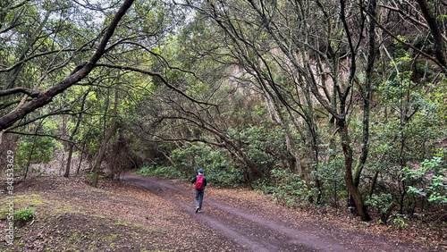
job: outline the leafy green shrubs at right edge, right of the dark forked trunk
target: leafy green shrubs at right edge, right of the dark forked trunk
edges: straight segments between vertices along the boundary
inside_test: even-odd
[[[426,200],[432,184],[436,189],[429,202],[443,202],[440,183],[430,181],[431,176],[436,180],[439,175],[423,161],[437,152],[435,142],[444,138],[446,127],[443,85],[429,83],[435,78],[433,70],[427,64],[415,63],[406,50],[398,46],[391,76],[379,87],[381,102],[387,108],[385,117],[379,114],[371,125],[367,165],[373,169],[364,172],[380,172],[387,190],[383,193],[392,194],[401,209],[417,206],[417,197]],[[420,73],[424,73],[425,82],[415,77]]]

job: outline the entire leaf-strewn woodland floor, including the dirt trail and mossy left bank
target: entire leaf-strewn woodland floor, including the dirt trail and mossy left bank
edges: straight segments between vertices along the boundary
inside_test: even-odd
[[[38,177],[15,185],[14,209],[36,217],[0,251],[447,251],[435,231],[309,214],[247,189],[207,188],[194,212],[188,181],[127,174],[123,181]],[[4,183],[3,183],[4,184]],[[0,209],[6,206],[0,196]]]

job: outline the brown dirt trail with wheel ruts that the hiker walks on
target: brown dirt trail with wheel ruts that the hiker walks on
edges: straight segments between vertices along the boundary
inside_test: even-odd
[[[245,251],[426,251],[383,236],[338,229],[266,201],[248,205],[207,189],[204,212],[196,214],[192,186],[184,182],[134,174],[126,174],[123,180],[164,197],[207,230]]]

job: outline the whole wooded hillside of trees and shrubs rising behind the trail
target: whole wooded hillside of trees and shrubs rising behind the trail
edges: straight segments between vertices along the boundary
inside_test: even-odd
[[[2,152],[17,177],[57,160],[93,186],[202,168],[215,186],[443,237],[446,13],[444,0],[5,0]]]

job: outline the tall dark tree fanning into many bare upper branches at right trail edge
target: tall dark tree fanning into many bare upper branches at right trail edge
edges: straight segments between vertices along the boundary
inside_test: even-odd
[[[333,116],[344,154],[346,186],[354,197],[362,220],[369,220],[370,217],[364,211],[363,199],[353,181],[353,151],[349,132],[350,97],[356,81],[365,15],[360,13],[348,16],[347,13],[357,13],[359,9],[354,7],[355,4],[346,1],[330,5],[319,1],[316,3],[293,1],[272,3],[262,0],[242,1],[239,4],[217,1],[202,4],[190,3],[190,5],[214,17],[216,23],[229,33],[232,39],[244,41],[243,50],[251,55],[259,55],[256,43],[262,41],[259,38],[262,38],[264,32],[274,41],[274,47],[271,50],[281,52],[287,59],[282,63],[285,64],[284,68],[289,65],[294,70],[291,80],[299,83],[297,85],[299,93],[296,95],[298,99],[307,101],[302,105],[305,113],[300,113],[300,115],[308,123],[308,130],[312,134],[310,139],[316,139],[313,99],[316,99],[326,112]],[[250,24],[251,29],[259,30],[257,34],[260,37],[254,41],[248,40],[245,31],[249,28],[243,27],[241,25],[243,23]],[[353,26],[352,23],[359,25]],[[252,62],[262,62],[262,60],[262,57],[258,57]],[[259,72],[257,78],[266,80],[265,76],[271,74],[271,71],[268,69],[268,62],[264,61],[262,64],[265,71]],[[327,75],[330,76],[330,80],[325,78]],[[281,100],[283,96],[279,89],[286,87],[278,84],[271,81],[269,88],[272,88],[275,96]],[[331,86],[333,94],[329,91]],[[286,99],[282,102],[283,105],[294,109]],[[313,141],[312,147],[316,152],[317,160],[319,149],[317,141]]]

